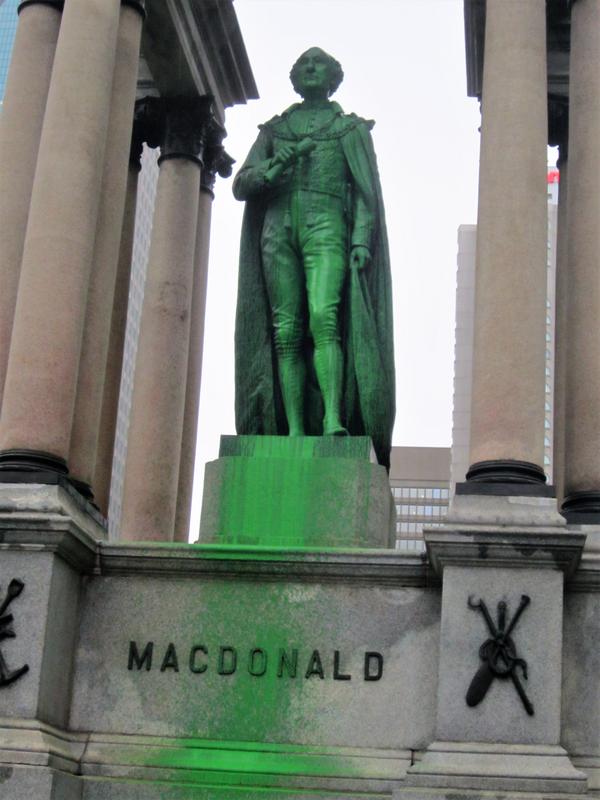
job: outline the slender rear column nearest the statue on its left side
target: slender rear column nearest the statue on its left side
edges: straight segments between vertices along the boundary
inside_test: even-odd
[[[224,131],[220,138],[223,138]],[[181,461],[179,464],[179,486],[175,515],[175,541],[187,542],[192,507],[194,464],[198,438],[198,409],[200,405],[200,383],[202,377],[202,350],[204,344],[204,317],[206,309],[206,282],[208,279],[208,251],[210,243],[210,219],[214,185],[217,173],[221,177],[231,175],[232,159],[219,145],[207,147],[202,169],[200,201],[198,208],[198,230],[196,232],[196,255],[194,258],[194,290],[192,295],[192,323],[190,329],[190,352],[185,391],[183,433],[181,437]]]

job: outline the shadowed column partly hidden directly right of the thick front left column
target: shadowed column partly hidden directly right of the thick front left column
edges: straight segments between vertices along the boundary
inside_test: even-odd
[[[144,17],[143,0],[122,3],[69,455],[71,480],[88,497],[93,496],[92,480],[127,192],[127,160]]]

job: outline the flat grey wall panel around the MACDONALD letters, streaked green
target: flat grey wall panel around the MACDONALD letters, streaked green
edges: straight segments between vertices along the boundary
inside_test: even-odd
[[[131,573],[86,581],[72,730],[302,747],[408,749],[431,740],[435,698],[422,687],[437,671],[437,592],[377,586],[360,573],[311,580],[294,565],[275,580],[229,567],[229,576],[193,581]],[[149,671],[128,669],[131,641],[140,655],[154,643]],[[178,672],[161,671],[171,643]],[[193,646],[207,649],[197,653],[208,665],[202,674],[190,671]],[[237,652],[230,676],[218,674],[221,646]],[[267,654],[261,677],[249,674],[254,648]],[[278,677],[280,648],[297,650],[296,677]],[[314,650],[323,679],[305,677]],[[335,679],[336,650],[351,680]],[[372,651],[384,659],[379,681],[364,680]]]

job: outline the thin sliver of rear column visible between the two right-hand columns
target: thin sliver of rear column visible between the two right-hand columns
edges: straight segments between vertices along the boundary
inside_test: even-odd
[[[555,109],[559,130],[551,137],[551,144],[558,144],[558,224],[556,236],[556,316],[554,334],[554,406],[553,406],[553,483],[560,504],[564,497],[565,482],[565,403],[567,368],[567,303],[569,288],[568,255],[568,166],[569,131],[568,108]],[[551,126],[552,132],[552,126]]]

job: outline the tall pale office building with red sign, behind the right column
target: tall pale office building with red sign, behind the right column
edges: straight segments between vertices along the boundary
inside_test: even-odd
[[[546,283],[546,350],[544,405],[544,469],[552,480],[552,428],[554,404],[554,320],[556,294],[556,226],[558,215],[558,170],[548,170],[548,237]],[[475,314],[476,225],[458,229],[456,273],[456,328],[454,341],[454,401],[452,413],[451,492],[465,480],[469,468],[471,392],[473,383],[473,324]]]

